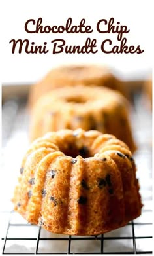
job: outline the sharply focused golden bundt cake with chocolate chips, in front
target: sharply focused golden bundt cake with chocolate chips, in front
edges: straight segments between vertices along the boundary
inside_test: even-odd
[[[141,213],[131,152],[109,134],[50,132],[31,144],[20,173],[15,210],[54,233],[102,234]]]

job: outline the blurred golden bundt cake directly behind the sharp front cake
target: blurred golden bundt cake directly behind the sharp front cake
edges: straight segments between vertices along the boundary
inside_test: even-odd
[[[61,129],[99,130],[114,134],[132,152],[127,108],[129,103],[114,90],[105,87],[75,86],[58,88],[42,96],[31,113],[30,139]]]

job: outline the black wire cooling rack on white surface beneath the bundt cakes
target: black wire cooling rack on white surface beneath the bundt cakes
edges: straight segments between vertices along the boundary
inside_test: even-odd
[[[138,151],[134,158],[144,204],[142,215],[125,227],[99,236],[52,234],[41,227],[30,225],[18,213],[11,211],[10,194],[18,177],[17,170],[19,170],[19,159],[23,156],[22,150],[27,146],[28,115],[25,110],[25,101],[18,98],[5,101],[2,112],[2,168],[5,181],[8,181],[8,175],[10,175],[8,184],[10,190],[7,189],[8,194],[5,191],[3,209],[0,209],[2,254],[152,253],[151,111],[144,107],[142,100],[140,94],[136,94],[131,115],[132,129],[138,144]],[[14,145],[18,152],[12,149]]]

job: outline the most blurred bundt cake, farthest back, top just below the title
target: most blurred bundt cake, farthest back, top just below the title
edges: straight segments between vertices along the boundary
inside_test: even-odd
[[[110,68],[103,65],[67,65],[52,69],[42,81],[33,84],[29,94],[29,108],[53,88],[76,86],[77,84],[107,86],[127,96],[128,88],[117,79]]]

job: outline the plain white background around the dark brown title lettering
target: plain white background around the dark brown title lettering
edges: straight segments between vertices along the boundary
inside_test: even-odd
[[[1,24],[2,82],[35,82],[42,78],[52,67],[67,63],[101,63],[114,67],[124,79],[145,79],[152,66],[152,2],[138,0],[5,0],[3,1]],[[93,27],[89,35],[81,34],[28,34],[24,25],[29,18],[37,20],[42,17],[44,25],[64,25],[72,17],[73,24],[78,25],[82,18]],[[117,43],[116,35],[100,34],[95,27],[97,22],[106,18],[115,18],[121,25],[127,25],[130,32],[126,34],[128,45],[140,45],[143,54],[12,54],[11,39],[29,39],[41,45],[44,41],[63,38],[67,45],[84,45],[87,37],[97,38],[97,45],[107,38]],[[49,47],[50,48],[50,47]]]

